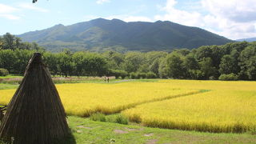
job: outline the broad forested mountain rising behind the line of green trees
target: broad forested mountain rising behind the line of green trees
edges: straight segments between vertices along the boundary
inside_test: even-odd
[[[70,26],[62,24],[45,30],[36,30],[18,37],[25,42],[38,42],[46,50],[172,50],[222,45],[230,39],[174,22],[123,22],[119,19],[98,18]]]

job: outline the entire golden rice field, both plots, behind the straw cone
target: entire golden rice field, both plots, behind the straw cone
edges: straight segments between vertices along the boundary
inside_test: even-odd
[[[256,82],[159,80],[56,85],[67,114],[122,111],[130,120],[179,130],[256,130]],[[7,104],[15,90],[0,90]]]

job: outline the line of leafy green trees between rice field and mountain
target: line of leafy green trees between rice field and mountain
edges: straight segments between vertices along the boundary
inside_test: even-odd
[[[23,74],[35,51],[42,53],[51,74],[66,77],[106,75],[116,78],[256,80],[256,42],[201,46],[171,53],[70,50],[51,53],[35,43],[21,42],[6,34],[0,38],[0,68],[9,70],[10,74]]]

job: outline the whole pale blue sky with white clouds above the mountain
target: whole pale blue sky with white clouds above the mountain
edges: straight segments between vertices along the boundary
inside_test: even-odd
[[[170,21],[230,39],[256,37],[256,0],[0,0],[0,35],[95,18]]]

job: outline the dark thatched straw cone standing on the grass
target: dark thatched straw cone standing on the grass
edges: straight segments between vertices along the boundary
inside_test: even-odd
[[[50,144],[70,135],[50,72],[35,53],[2,119],[0,138],[17,144]]]

